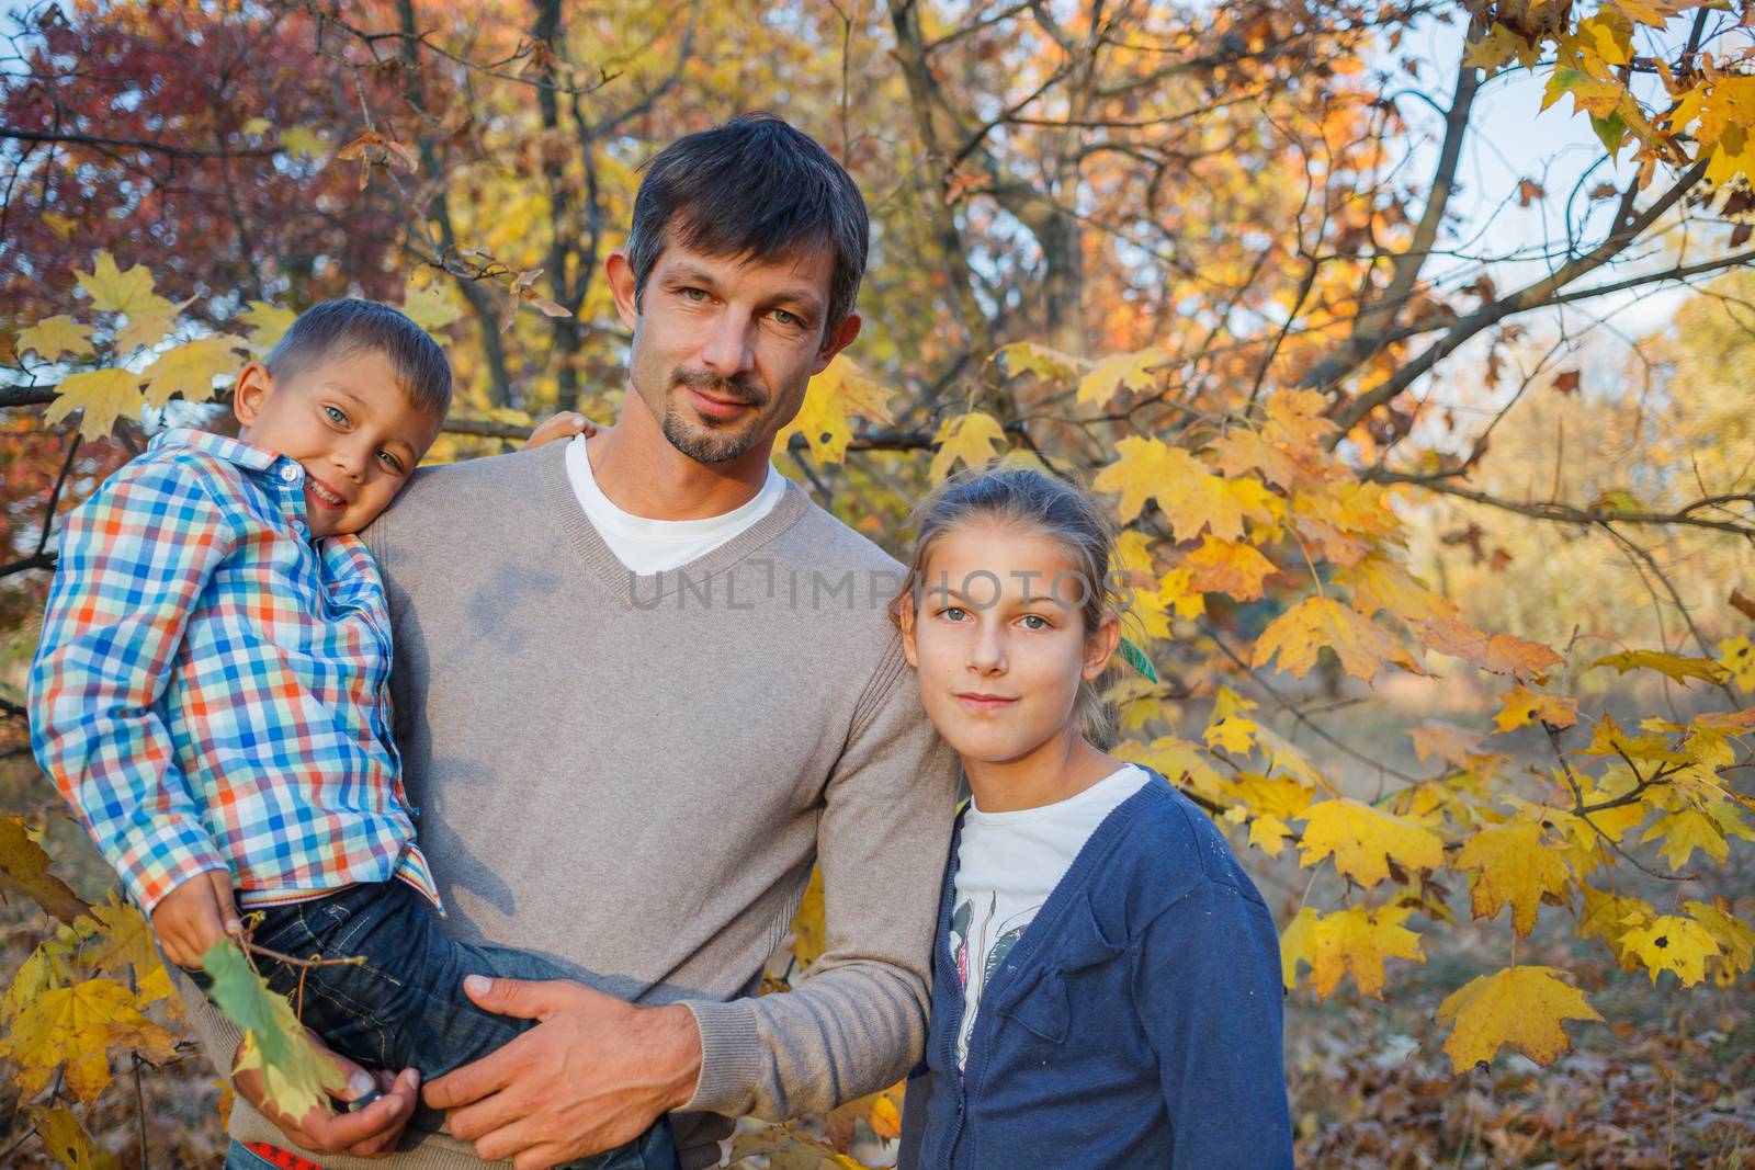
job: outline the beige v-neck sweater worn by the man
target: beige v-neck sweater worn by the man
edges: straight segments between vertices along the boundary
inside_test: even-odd
[[[790,486],[725,546],[635,577],[563,453],[421,472],[367,531],[446,928],[688,1003],[688,1112],[781,1117],[895,1082],[925,1038],[955,786],[885,614],[902,567]],[[797,991],[753,998],[814,861],[827,951]],[[191,1009],[230,1059],[235,1031]],[[725,1130],[679,1114],[684,1166]],[[232,1135],[286,1144],[244,1102]],[[318,1161],[481,1165],[444,1135],[407,1145]]]

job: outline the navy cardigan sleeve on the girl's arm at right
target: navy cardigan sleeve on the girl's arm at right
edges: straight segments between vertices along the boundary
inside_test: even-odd
[[[1143,933],[1134,1003],[1174,1142],[1172,1170],[1292,1170],[1279,938],[1257,898],[1206,882]]]

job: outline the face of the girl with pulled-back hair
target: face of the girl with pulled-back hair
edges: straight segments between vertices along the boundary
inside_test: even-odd
[[[1085,581],[1060,540],[976,521],[932,547],[902,646],[927,716],[965,763],[1011,763],[1064,735],[1079,682],[1118,640],[1107,616],[1085,631]]]

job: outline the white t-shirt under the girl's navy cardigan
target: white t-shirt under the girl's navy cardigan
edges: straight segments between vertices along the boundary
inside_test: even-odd
[[[956,1065],[969,1058],[969,1035],[981,991],[1013,944],[1035,919],[1072,860],[1114,809],[1151,777],[1127,765],[1078,796],[1016,812],[981,812],[971,800],[956,845],[951,961],[963,984],[963,1023]]]

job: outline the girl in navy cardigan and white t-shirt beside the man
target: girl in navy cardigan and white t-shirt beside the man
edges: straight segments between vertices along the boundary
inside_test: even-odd
[[[1272,917],[1213,823],[1107,754],[1111,530],[1011,468],[921,507],[892,609],[974,796],[900,1166],[1292,1165]]]

